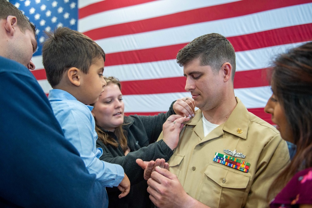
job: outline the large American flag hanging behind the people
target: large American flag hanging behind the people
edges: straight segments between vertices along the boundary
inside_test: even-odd
[[[272,93],[266,68],[277,54],[312,40],[311,0],[11,2],[18,3],[41,32],[62,24],[95,40],[107,54],[104,75],[122,82],[127,115],[165,112],[173,100],[190,96],[184,90],[186,78],[176,55],[194,38],[216,32],[227,37],[236,51],[235,95],[249,111],[271,123],[270,115],[263,111]],[[39,46],[32,59],[37,69],[33,74],[48,93],[51,86],[40,54]]]

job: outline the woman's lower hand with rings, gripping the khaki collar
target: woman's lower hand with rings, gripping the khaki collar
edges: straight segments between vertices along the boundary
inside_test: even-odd
[[[163,123],[163,141],[171,150],[174,150],[178,145],[180,132],[184,126],[183,122],[189,120],[189,117],[171,115],[167,121]]]

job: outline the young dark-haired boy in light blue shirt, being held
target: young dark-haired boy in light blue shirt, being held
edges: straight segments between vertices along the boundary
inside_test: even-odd
[[[89,37],[67,27],[47,35],[42,59],[53,88],[48,98],[65,138],[79,151],[90,174],[95,174],[103,186],[118,186],[122,191],[119,198],[126,196],[130,182],[123,168],[99,160],[103,151],[96,148],[93,107],[87,106],[99,99],[106,85],[105,52]]]

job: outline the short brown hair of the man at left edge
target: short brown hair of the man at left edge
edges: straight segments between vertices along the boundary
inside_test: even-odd
[[[36,26],[29,21],[21,10],[6,0],[0,0],[0,19],[6,19],[10,15],[16,17],[17,25],[22,32],[25,33],[26,29],[28,29],[34,33],[35,37],[37,37]]]

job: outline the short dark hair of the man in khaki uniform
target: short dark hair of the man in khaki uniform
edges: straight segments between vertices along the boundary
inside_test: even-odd
[[[232,82],[236,70],[235,51],[232,44],[218,33],[210,33],[195,38],[183,47],[177,54],[177,63],[180,67],[199,58],[201,66],[211,66],[219,70],[222,64],[229,62],[232,65]]]

